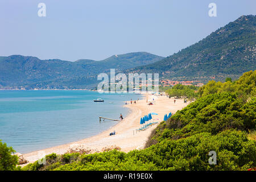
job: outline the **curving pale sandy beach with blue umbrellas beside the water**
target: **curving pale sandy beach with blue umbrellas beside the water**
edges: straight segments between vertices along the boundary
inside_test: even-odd
[[[24,158],[28,160],[29,163],[35,162],[38,159],[43,158],[44,155],[52,154],[64,154],[71,144],[84,144],[88,147],[96,148],[101,151],[105,146],[119,146],[121,151],[129,152],[134,149],[141,149],[146,144],[151,131],[163,121],[164,114],[176,113],[177,110],[183,109],[187,106],[183,102],[183,99],[176,99],[174,104],[174,98],[167,98],[166,96],[158,96],[154,98],[153,105],[148,105],[145,100],[139,100],[136,104],[125,105],[131,111],[123,121],[118,122],[117,125],[112,128],[90,138],[85,138],[77,142],[72,142],[68,144],[63,144],[60,146],[55,146],[51,148],[46,148],[44,150],[30,152],[28,154],[23,154]],[[158,124],[149,127],[144,131],[137,131],[142,125],[139,124],[141,117],[151,112],[158,113],[158,115],[152,115]],[[109,133],[115,131],[115,135],[110,136]],[[23,164],[23,166],[26,164]]]

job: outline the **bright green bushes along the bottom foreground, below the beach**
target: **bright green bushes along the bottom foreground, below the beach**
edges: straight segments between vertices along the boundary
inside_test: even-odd
[[[208,163],[217,152],[217,165]],[[256,143],[241,131],[217,135],[200,133],[179,140],[162,140],[129,153],[112,150],[99,154],[51,154],[46,164],[35,162],[23,170],[245,170],[255,166]]]

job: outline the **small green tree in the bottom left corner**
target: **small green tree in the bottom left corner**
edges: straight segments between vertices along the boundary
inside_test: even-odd
[[[7,144],[0,140],[0,171],[11,171],[16,168],[18,156],[12,155],[14,152],[12,147],[7,147]]]

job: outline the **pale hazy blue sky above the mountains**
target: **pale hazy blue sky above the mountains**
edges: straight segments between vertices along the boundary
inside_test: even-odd
[[[46,16],[38,16],[39,3]],[[209,3],[217,16],[210,17]],[[0,0],[0,56],[103,60],[129,52],[170,56],[241,15],[255,0]]]

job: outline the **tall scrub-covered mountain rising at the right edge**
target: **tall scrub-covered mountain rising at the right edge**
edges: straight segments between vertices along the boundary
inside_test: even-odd
[[[126,73],[159,73],[172,80],[225,80],[256,68],[256,16],[241,16],[207,38],[152,64]]]

